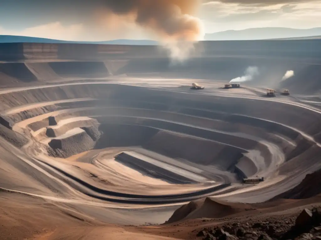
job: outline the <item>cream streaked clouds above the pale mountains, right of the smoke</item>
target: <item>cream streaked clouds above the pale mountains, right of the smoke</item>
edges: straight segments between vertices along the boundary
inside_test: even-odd
[[[294,3],[292,1],[287,1],[288,3],[264,1],[264,4],[259,2],[254,0],[203,0],[200,16],[202,16],[206,33],[262,27],[320,27],[320,0],[293,1]]]

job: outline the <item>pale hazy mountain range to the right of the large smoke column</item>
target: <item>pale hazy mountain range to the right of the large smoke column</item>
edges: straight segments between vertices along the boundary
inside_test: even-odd
[[[320,36],[321,28],[296,29],[296,28],[248,28],[244,30],[228,30],[205,35],[205,40],[263,40],[276,38]]]

